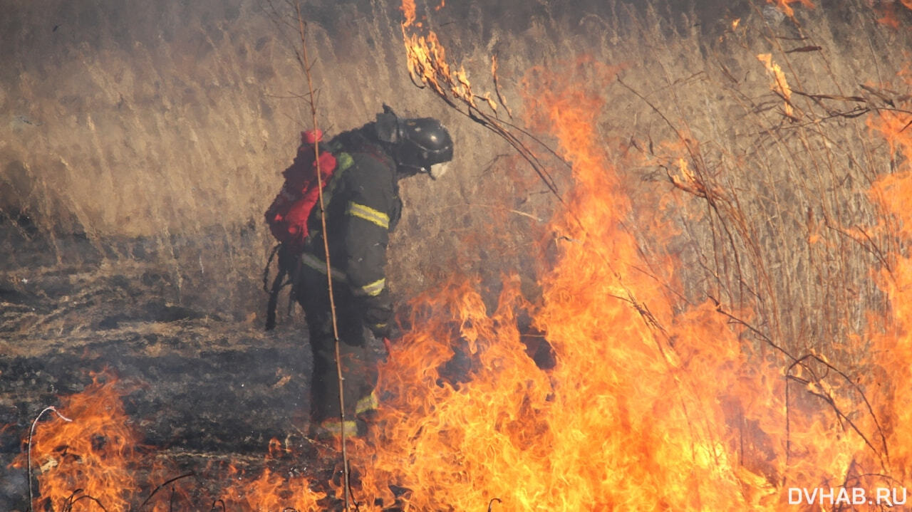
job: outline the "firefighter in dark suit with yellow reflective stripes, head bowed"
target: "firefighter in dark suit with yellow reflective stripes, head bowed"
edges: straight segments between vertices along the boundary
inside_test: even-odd
[[[328,242],[344,377],[347,435],[364,435],[377,406],[377,357],[372,347],[393,337],[393,304],[384,267],[389,233],[402,210],[399,179],[424,174],[438,179],[452,159],[452,139],[434,118],[399,118],[384,106],[377,120],[326,143],[336,168],[320,209],[308,218],[295,298],[304,308],[314,356],[311,425],[317,436],[337,435],[339,414],[336,346],[326,278]]]

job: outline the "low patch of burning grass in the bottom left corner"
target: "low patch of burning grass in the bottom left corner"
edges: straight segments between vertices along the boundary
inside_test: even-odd
[[[37,477],[33,509],[303,511],[326,506],[318,505],[326,493],[295,477],[299,470],[287,463],[290,449],[276,439],[259,463],[212,458],[180,474],[172,460],[141,444],[121,401],[129,386],[109,372],[92,377],[85,391],[63,398],[49,421],[39,424],[36,418],[35,435],[16,460]]]

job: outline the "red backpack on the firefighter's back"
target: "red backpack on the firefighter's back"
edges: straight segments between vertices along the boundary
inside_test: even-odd
[[[314,146],[321,138],[323,132],[318,129],[301,132],[301,146],[297,148],[295,161],[282,172],[285,183],[269,210],[266,210],[266,223],[275,240],[289,244],[295,251],[304,248],[308,234],[307,218],[319,201]],[[326,188],[326,182],[336,170],[336,157],[321,148],[319,164],[320,182]]]

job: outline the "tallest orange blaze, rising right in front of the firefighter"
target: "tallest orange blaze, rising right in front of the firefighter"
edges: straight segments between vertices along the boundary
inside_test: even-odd
[[[750,354],[713,304],[674,312],[654,275],[670,279],[675,261],[637,270],[630,202],[597,143],[604,98],[541,69],[529,84],[541,86],[526,110],[542,113],[576,183],[553,221],[564,241],[542,304],[524,302],[515,278],[492,312],[466,281],[416,304],[419,328],[383,367],[383,428],[354,450],[375,469],[364,492],[391,501],[385,486],[405,487],[419,510],[493,498],[511,510],[758,506],[772,487],[739,465],[723,404],[763,400],[751,378],[775,375],[746,370]],[[552,343],[553,370],[525,356],[523,313]],[[441,382],[457,353],[472,359],[467,382]],[[781,420],[782,404],[758,416]],[[745,493],[745,480],[761,488]]]

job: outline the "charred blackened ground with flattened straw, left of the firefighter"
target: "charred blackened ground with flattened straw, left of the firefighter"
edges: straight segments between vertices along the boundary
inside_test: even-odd
[[[271,438],[303,438],[312,362],[300,312],[265,333],[253,307],[179,302],[180,274],[137,258],[143,241],[109,258],[97,241],[58,238],[52,257],[47,241],[15,238],[4,238],[12,255],[0,262],[0,509],[24,509],[26,477],[7,465],[36,415],[83,391],[93,372],[124,384],[128,421],[175,471],[213,460],[255,469]]]

